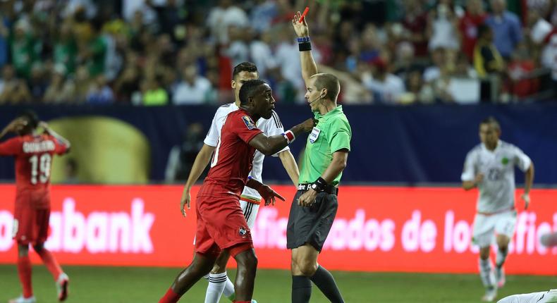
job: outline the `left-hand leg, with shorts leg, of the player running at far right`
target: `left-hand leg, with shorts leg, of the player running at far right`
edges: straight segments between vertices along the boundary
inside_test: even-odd
[[[491,242],[493,242],[495,221],[491,216],[476,214],[474,218],[474,230],[472,242],[479,246],[479,277],[482,279],[486,292],[483,301],[491,302],[497,296],[495,273],[489,253]]]

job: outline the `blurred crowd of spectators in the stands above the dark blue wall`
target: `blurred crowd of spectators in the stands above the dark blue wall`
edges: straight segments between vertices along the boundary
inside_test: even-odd
[[[306,4],[1,0],[0,104],[219,104],[242,61],[303,103]],[[317,0],[307,20],[343,104],[557,99],[557,0]]]

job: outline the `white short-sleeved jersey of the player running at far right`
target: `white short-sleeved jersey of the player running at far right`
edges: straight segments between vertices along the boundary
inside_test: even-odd
[[[473,181],[478,173],[484,175],[479,183],[477,211],[496,213],[515,205],[515,166],[526,171],[532,161],[518,147],[503,141],[497,142],[494,151],[479,144],[468,152],[460,179]]]

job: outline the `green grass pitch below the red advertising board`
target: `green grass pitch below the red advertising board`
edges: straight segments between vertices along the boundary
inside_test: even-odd
[[[180,268],[64,266],[70,276],[67,302],[158,302]],[[229,271],[234,276],[234,271]],[[477,275],[417,273],[355,273],[334,271],[348,303],[367,302],[479,302],[483,287]],[[33,287],[39,303],[56,301],[54,281],[44,266],[33,267]],[[202,279],[180,302],[203,302],[207,281]],[[498,298],[557,287],[557,277],[507,276]],[[15,265],[0,266],[0,303],[20,294]],[[259,303],[290,302],[288,271],[257,271],[255,295]],[[229,302],[222,298],[221,302]],[[311,302],[328,302],[314,287]]]

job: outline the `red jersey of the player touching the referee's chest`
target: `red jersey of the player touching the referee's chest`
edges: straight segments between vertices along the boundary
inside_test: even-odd
[[[255,154],[255,148],[248,142],[261,133],[247,111],[228,113],[204,184],[221,185],[224,192],[240,197]]]

